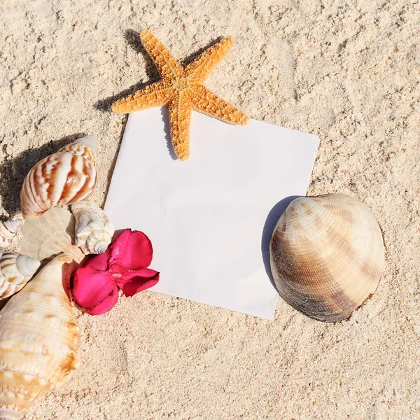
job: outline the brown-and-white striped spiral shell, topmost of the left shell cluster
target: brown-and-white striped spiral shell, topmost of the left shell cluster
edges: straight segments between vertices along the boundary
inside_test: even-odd
[[[97,180],[96,146],[95,135],[83,137],[38,162],[20,191],[23,216],[39,216],[51,207],[79,202],[92,193]]]

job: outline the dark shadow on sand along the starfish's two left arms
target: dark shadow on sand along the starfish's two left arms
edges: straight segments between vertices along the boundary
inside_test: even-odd
[[[128,45],[130,45],[135,52],[144,56],[144,59],[146,60],[146,74],[149,80],[148,82],[138,82],[130,87],[127,87],[127,89],[119,92],[118,94],[114,94],[112,96],[106,97],[105,99],[100,99],[97,101],[94,104],[94,108],[102,112],[109,112],[113,102],[130,96],[130,94],[137,92],[137,90],[144,89],[146,86],[151,85],[160,79],[158,69],[156,69],[156,66],[153,63],[153,59],[151,59],[151,56],[148,55],[148,52],[145,50],[143,44],[140,41],[139,32],[134,31],[133,29],[127,29],[127,31],[124,33],[124,37]]]

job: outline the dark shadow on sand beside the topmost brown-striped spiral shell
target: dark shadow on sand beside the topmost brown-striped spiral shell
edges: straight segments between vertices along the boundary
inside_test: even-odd
[[[50,141],[38,148],[30,148],[23,151],[15,158],[5,160],[0,164],[0,195],[1,205],[10,216],[15,215],[20,210],[20,189],[22,183],[36,163],[48,155],[57,152],[66,144],[71,143],[80,137],[85,136],[85,133],[71,134],[62,137],[59,140]]]

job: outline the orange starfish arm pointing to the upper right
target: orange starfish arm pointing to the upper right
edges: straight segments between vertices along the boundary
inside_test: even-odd
[[[193,80],[196,83],[204,82],[211,71],[213,71],[223,57],[228,54],[230,48],[232,48],[233,42],[232,36],[229,36],[229,38],[224,38],[219,43],[216,43],[216,45],[205,50],[202,55],[186,66],[186,75],[190,76],[190,80]]]

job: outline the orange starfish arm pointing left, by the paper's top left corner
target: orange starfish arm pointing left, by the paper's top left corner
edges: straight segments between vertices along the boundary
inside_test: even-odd
[[[165,84],[160,80],[153,83],[153,85],[138,90],[129,97],[114,102],[111,110],[115,113],[128,113],[153,108],[153,106],[162,106],[169,102],[173,94],[174,91],[169,87],[165,87]]]

